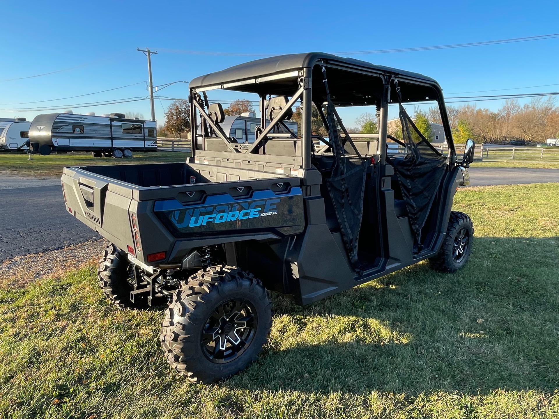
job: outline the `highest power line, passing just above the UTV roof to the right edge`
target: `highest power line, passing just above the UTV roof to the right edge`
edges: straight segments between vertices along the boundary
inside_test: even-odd
[[[427,51],[427,50],[440,50],[452,48],[465,48],[470,46],[484,46],[484,45],[498,45],[498,44],[513,44],[515,42],[528,42],[528,41],[542,41],[546,39],[559,38],[559,34],[547,34],[536,36],[523,36],[519,38],[498,39],[491,41],[479,42],[463,42],[461,44],[446,44],[446,45],[431,45],[431,46],[417,46],[406,48],[391,48],[385,50],[364,50],[364,51],[337,51],[333,54],[352,54],[352,55],[366,55],[366,54],[387,54],[387,53],[408,53],[411,51]],[[177,50],[168,48],[159,48],[160,51],[176,54],[193,54],[193,55],[220,55],[220,56],[254,56],[254,57],[269,57],[280,54],[269,53],[238,53],[238,52],[225,52],[225,51],[193,51],[193,50]]]

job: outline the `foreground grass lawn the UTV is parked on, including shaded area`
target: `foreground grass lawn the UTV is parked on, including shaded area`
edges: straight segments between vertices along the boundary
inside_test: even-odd
[[[178,378],[162,312],[119,311],[95,267],[0,289],[0,417],[559,417],[559,184],[468,188],[471,260],[411,266],[307,307],[230,380]],[[100,249],[101,253],[101,249]]]

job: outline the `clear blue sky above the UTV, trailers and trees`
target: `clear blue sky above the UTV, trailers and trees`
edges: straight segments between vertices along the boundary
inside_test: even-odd
[[[146,58],[136,47],[158,50],[154,84],[191,80],[257,59],[254,56],[195,55],[171,50],[287,54],[356,51],[457,44],[559,32],[555,2],[3,2],[0,80],[1,109],[66,106],[82,102],[144,97],[144,84],[75,99],[56,99],[111,89],[148,79]],[[205,5],[211,4],[206,9]],[[291,8],[290,8],[291,7]],[[258,19],[263,18],[261,28]],[[192,25],[192,27],[189,27]],[[356,55],[372,63],[408,69],[438,80],[454,92],[559,83],[559,39],[408,53]],[[164,96],[187,97],[187,84]],[[559,91],[558,86],[496,93]],[[242,97],[237,93],[223,99]],[[169,102],[163,102],[167,106]],[[499,108],[500,101],[479,102]],[[155,102],[164,122],[163,107]],[[67,107],[72,108],[72,107]],[[74,108],[74,113],[135,111],[149,118],[149,101]],[[353,125],[363,109],[342,112]],[[55,111],[46,111],[55,112]],[[37,113],[7,112],[0,117]]]

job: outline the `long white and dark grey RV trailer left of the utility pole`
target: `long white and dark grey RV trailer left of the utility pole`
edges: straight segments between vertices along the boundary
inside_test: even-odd
[[[94,156],[129,157],[132,151],[157,151],[155,121],[128,119],[122,113],[109,116],[45,113],[37,115],[29,129],[34,151],[91,151]]]

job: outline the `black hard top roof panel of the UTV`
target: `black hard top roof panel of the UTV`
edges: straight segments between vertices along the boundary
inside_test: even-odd
[[[315,64],[319,63],[319,61],[325,61],[326,64],[332,63],[348,65],[357,69],[361,68],[364,70],[373,70],[375,72],[396,75],[396,77],[400,76],[409,79],[421,80],[429,84],[434,84],[438,87],[438,83],[434,79],[419,73],[408,72],[406,70],[399,70],[383,65],[371,64],[367,63],[367,61],[356,60],[354,58],[343,58],[332,54],[301,53],[277,55],[269,58],[249,61],[248,63],[235,65],[219,72],[201,75],[190,82],[190,88],[197,89],[277,73],[286,73],[290,70],[299,70],[305,67],[311,68]],[[251,89],[247,85],[235,89],[245,92],[257,90]]]

